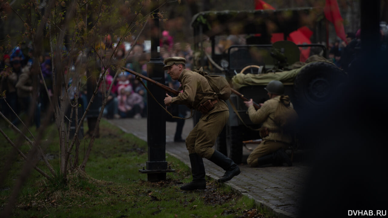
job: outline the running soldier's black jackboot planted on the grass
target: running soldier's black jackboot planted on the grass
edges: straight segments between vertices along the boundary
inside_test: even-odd
[[[191,163],[191,172],[193,180],[186,185],[180,187],[182,190],[196,190],[196,189],[206,189],[206,180],[205,180],[205,166],[203,165],[203,159],[198,154],[189,154],[190,163]]]

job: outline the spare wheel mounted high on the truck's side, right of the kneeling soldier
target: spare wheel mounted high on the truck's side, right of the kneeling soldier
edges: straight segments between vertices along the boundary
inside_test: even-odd
[[[325,104],[333,97],[346,74],[327,62],[313,62],[303,67],[294,80],[294,95],[305,108]]]

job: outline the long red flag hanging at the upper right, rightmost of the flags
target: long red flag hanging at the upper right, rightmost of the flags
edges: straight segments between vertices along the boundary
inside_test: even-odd
[[[343,19],[341,17],[340,9],[338,8],[337,0],[326,0],[324,12],[326,19],[334,24],[337,36],[346,42]]]

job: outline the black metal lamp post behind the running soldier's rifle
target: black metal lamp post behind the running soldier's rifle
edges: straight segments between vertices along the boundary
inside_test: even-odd
[[[158,6],[158,5],[156,5]],[[156,9],[158,7],[154,7]],[[155,14],[159,10],[152,10]],[[147,76],[158,83],[165,84],[165,72],[163,70],[163,61],[159,51],[159,20],[152,19],[151,24],[151,60],[147,64]],[[149,91],[158,100],[159,104],[164,105],[165,92],[154,84],[147,83]],[[157,102],[147,93],[147,144],[148,161],[147,169],[139,170],[141,173],[147,173],[149,182],[158,182],[166,180],[166,172],[173,172],[167,168],[166,161],[166,112]]]

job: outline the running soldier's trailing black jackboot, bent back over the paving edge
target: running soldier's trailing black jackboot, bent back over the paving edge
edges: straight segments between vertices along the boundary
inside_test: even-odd
[[[218,179],[218,182],[227,182],[231,180],[233,176],[237,176],[241,172],[239,166],[237,166],[232,159],[219,151],[214,151],[214,154],[210,157],[209,161],[217,164],[226,171],[225,174]]]

